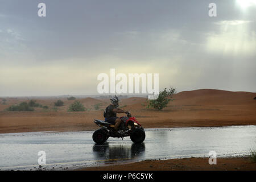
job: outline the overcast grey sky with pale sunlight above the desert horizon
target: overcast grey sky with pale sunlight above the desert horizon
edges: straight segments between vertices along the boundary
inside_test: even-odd
[[[0,96],[97,94],[110,68],[159,73],[160,89],[256,92],[255,20],[256,0],[0,0]]]

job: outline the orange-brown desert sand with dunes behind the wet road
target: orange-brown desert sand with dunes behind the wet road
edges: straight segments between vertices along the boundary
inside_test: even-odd
[[[130,110],[144,128],[256,125],[255,96],[256,93],[250,92],[201,89],[175,94],[174,100],[162,111],[146,109],[146,98],[126,98],[120,106],[123,110]],[[5,111],[10,105],[29,99],[7,98],[3,105],[0,98],[0,133],[94,130],[98,126],[93,119],[104,119],[103,110],[109,104],[109,100],[82,98],[79,101],[88,110],[68,112],[68,106],[74,101],[61,98],[64,106],[54,108],[58,99],[36,100],[49,109]],[[98,110],[94,108],[96,104],[100,105]]]

